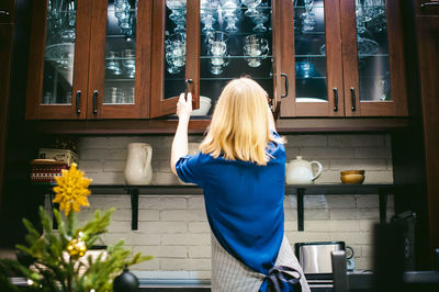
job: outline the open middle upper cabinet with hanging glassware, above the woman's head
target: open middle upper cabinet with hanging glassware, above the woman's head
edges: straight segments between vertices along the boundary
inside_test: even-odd
[[[270,0],[154,1],[151,117],[176,112],[193,93],[193,115],[212,114],[224,86],[251,76],[274,90],[275,4]]]

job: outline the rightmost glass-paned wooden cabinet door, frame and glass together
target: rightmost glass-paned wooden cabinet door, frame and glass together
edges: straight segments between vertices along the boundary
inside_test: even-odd
[[[398,1],[342,1],[347,115],[406,114]],[[346,42],[345,42],[346,40]],[[354,48],[354,49],[349,49]],[[346,74],[348,72],[348,74]],[[352,74],[350,74],[352,72]]]

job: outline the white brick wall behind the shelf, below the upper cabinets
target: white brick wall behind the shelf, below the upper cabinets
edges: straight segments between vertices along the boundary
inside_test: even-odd
[[[302,155],[324,167],[315,183],[339,183],[340,170],[364,169],[364,183],[392,183],[392,156],[389,135],[286,135],[288,161]],[[190,151],[201,136],[190,136]],[[124,184],[126,147],[132,142],[153,146],[153,184],[178,184],[169,166],[172,136],[82,137],[79,168],[93,184]],[[94,209],[115,206],[110,232],[103,242],[125,239],[133,252],[151,255],[154,260],[134,269],[142,277],[210,279],[210,228],[202,195],[140,195],[138,231],[131,229],[131,202],[126,194],[91,195],[90,209],[81,212],[83,222]],[[394,213],[389,199],[387,218]],[[46,207],[49,207],[46,200]],[[371,234],[379,222],[375,194],[309,195],[304,200],[305,232],[297,231],[295,195],[286,195],[285,233],[293,245],[299,242],[344,240],[354,250],[356,268],[371,269]]]

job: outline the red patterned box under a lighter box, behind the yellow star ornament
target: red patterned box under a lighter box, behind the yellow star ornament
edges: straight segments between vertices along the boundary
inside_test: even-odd
[[[69,169],[69,166],[53,159],[34,159],[31,161],[31,181],[54,184],[55,177],[60,177],[63,169]]]

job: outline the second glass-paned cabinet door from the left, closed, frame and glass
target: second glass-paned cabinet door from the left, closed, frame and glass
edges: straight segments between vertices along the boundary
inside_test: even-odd
[[[88,116],[148,117],[150,15],[150,1],[93,1]]]

